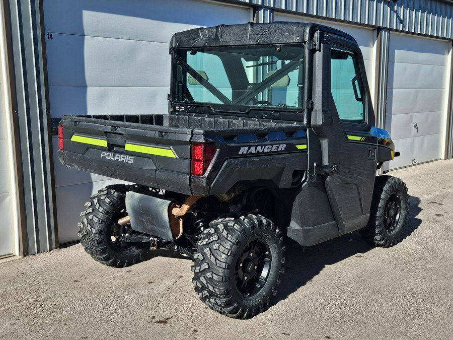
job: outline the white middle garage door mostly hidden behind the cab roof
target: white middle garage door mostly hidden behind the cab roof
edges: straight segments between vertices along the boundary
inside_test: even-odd
[[[368,85],[373,98],[374,93],[374,42],[376,41],[376,31],[368,28],[354,27],[351,25],[342,25],[336,22],[318,20],[312,17],[300,17],[291,16],[282,13],[274,13],[274,21],[299,21],[299,22],[312,22],[321,24],[329,27],[336,28],[345,33],[350,34],[360,46],[360,50],[363,54],[363,61],[365,64],[366,78],[368,79]]]

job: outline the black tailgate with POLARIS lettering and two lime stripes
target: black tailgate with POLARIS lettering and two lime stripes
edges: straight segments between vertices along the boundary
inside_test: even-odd
[[[165,119],[147,117],[158,124]],[[80,116],[63,116],[60,124],[64,150],[58,158],[67,167],[191,194],[192,129]]]

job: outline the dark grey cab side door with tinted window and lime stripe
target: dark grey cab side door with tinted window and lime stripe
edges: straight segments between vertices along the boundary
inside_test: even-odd
[[[316,82],[322,82],[324,89],[315,93],[312,119],[321,142],[319,173],[325,172],[324,185],[339,232],[349,232],[368,221],[376,170],[377,138],[365,68],[359,47],[332,35],[321,53],[315,53],[315,60],[314,74],[320,67],[323,75]]]

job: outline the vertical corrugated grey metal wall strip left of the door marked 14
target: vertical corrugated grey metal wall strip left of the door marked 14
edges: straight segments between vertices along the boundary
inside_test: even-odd
[[[8,2],[11,34],[12,112],[20,140],[19,201],[24,225],[20,252],[35,254],[58,244],[47,115],[42,22],[38,0]],[[14,71],[14,72],[13,72]],[[19,145],[19,143],[18,143]]]

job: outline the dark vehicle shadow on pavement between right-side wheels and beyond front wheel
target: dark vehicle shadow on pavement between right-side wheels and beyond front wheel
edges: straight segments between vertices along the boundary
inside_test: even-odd
[[[402,236],[403,242],[421,225],[422,220],[417,218],[422,211],[419,203],[418,197],[410,197],[409,217]],[[311,247],[287,247],[283,265],[285,272],[280,277],[280,286],[269,307],[278,304],[279,301],[310,283],[325,266],[334,265],[351,256],[362,257],[373,248],[373,245],[362,239],[359,231]]]

